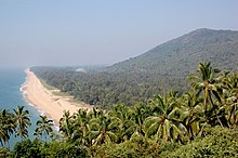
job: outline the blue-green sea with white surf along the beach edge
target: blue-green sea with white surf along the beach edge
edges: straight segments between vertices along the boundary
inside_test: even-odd
[[[13,109],[16,109],[18,105],[25,106],[25,109],[29,110],[31,121],[31,126],[28,128],[28,137],[32,140],[35,139],[36,122],[43,111],[37,109],[25,98],[23,85],[26,81],[26,74],[24,70],[24,68],[0,69],[0,109],[9,109],[13,113]],[[21,141],[19,136],[11,135],[9,147],[13,149],[18,141]]]

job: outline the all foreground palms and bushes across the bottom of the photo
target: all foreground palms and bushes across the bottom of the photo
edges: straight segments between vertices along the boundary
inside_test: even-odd
[[[168,91],[108,110],[65,111],[57,135],[52,121],[41,116],[32,141],[27,139],[28,111],[23,106],[13,113],[1,109],[0,156],[238,157],[238,74],[200,63],[188,79],[184,93]],[[23,139],[13,150],[8,148],[11,134]]]

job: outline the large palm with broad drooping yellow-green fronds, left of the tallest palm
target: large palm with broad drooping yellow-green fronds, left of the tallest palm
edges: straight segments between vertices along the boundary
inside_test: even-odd
[[[186,128],[181,123],[178,117],[178,105],[171,98],[155,95],[150,101],[154,115],[145,120],[146,136],[156,141],[181,140],[186,133]]]

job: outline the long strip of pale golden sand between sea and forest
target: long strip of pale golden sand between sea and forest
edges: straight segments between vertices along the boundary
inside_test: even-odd
[[[47,116],[54,120],[56,126],[58,126],[58,121],[65,110],[69,110],[70,114],[74,114],[79,108],[91,109],[90,105],[69,102],[71,96],[53,95],[53,91],[57,90],[49,90],[43,87],[36,75],[29,69],[26,69],[25,73],[27,79],[23,89],[26,100],[37,108],[43,110]]]

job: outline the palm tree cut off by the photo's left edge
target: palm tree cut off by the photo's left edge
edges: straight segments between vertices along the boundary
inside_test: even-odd
[[[0,143],[9,144],[10,135],[14,132],[15,126],[13,121],[13,116],[9,110],[3,109],[0,113]]]

